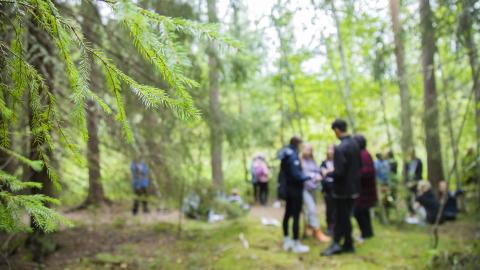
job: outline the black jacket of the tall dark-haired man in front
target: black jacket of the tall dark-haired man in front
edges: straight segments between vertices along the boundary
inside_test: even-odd
[[[333,196],[356,198],[360,192],[362,160],[360,148],[351,136],[340,139],[333,155]]]

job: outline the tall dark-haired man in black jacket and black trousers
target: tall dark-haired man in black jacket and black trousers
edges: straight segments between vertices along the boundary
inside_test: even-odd
[[[333,154],[333,197],[335,202],[335,227],[333,243],[324,250],[322,256],[340,253],[353,253],[352,223],[350,215],[353,200],[358,197],[362,161],[357,142],[347,133],[347,122],[337,119],[332,123],[332,130],[340,139]],[[340,241],[344,241],[340,245]]]

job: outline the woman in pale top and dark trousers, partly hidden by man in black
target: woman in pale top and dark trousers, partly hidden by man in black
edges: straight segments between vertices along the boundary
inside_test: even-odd
[[[333,235],[333,226],[335,225],[335,204],[333,202],[333,152],[335,145],[331,144],[327,148],[327,159],[320,165],[322,173],[322,192],[325,201],[325,218],[327,223],[327,234]]]

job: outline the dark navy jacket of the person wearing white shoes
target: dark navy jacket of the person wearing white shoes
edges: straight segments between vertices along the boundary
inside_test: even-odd
[[[310,179],[302,171],[298,151],[292,145],[282,149],[279,154],[280,174],[285,179],[287,189],[303,190],[303,182]]]

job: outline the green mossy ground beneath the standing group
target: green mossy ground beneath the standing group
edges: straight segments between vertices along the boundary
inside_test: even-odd
[[[312,248],[308,254],[283,252],[280,228],[262,226],[252,217],[218,224],[188,221],[179,238],[172,224],[148,226],[158,237],[155,241],[126,243],[69,269],[452,269],[455,258],[472,257],[479,251],[478,225],[465,219],[442,227],[436,250],[431,248],[428,226],[375,224],[375,237],[357,245],[356,254],[333,258],[320,257],[327,244],[314,240],[305,241]],[[449,254],[461,256],[452,259]]]

